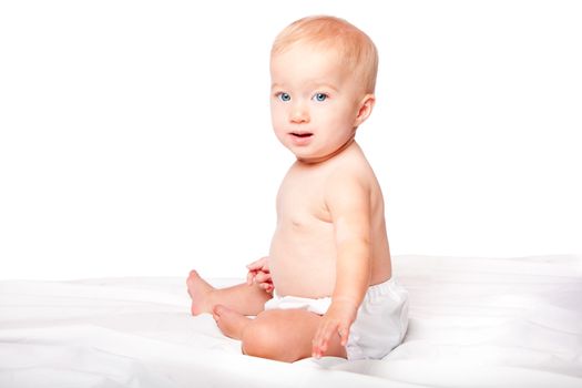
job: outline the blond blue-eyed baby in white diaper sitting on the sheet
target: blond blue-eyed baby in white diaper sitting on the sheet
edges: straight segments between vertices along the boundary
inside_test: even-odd
[[[187,279],[192,314],[213,314],[246,355],[378,359],[405,336],[381,190],[355,141],[377,68],[368,35],[333,17],[300,19],[273,44],[273,127],[297,160],[277,195],[269,255],[248,266],[246,284],[214,288],[195,270]]]

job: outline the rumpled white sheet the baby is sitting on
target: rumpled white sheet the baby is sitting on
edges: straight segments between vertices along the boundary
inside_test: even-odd
[[[582,387],[581,256],[394,267],[408,334],[361,361],[243,356],[211,316],[190,316],[184,277],[2,280],[0,387]]]

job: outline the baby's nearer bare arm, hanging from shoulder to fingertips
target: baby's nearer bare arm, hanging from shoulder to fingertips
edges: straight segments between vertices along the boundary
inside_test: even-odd
[[[329,181],[326,204],[331,214],[337,246],[336,286],[331,305],[313,340],[313,356],[321,357],[331,336],[346,346],[349,328],[370,280],[370,193],[356,175]]]

